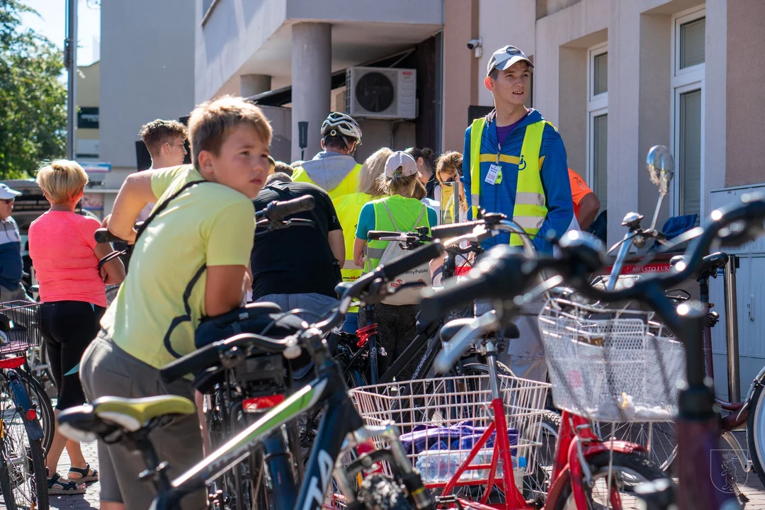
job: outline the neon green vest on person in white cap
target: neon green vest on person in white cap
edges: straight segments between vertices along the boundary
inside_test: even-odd
[[[393,196],[373,200],[372,203],[375,208],[375,230],[409,232],[418,226],[431,226],[428,220],[427,207],[416,198]],[[388,209],[386,209],[386,205]],[[395,225],[391,221],[388,210],[396,222]],[[382,258],[389,242],[378,239],[368,242],[364,247],[364,255],[366,255],[364,272],[372,271],[379,265],[380,258]]]

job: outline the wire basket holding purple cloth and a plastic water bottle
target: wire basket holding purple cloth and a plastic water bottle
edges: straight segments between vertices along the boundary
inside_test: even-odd
[[[516,483],[531,472],[541,445],[542,415],[549,384],[499,376]],[[426,486],[445,486],[493,421],[488,375],[370,385],[350,390],[356,408],[369,425],[396,422],[412,466]],[[458,480],[458,485],[487,482],[496,431]],[[375,441],[376,447],[385,447]],[[474,466],[482,466],[475,469]],[[388,469],[387,466],[385,469]],[[502,473],[497,471],[497,476]]]

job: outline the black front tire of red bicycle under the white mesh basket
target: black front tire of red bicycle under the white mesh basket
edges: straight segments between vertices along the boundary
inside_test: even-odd
[[[613,460],[611,456],[613,455]],[[653,482],[659,479],[668,479],[671,482],[669,476],[656,466],[653,462],[646,459],[644,456],[637,455],[635,453],[621,453],[621,452],[603,452],[596,453],[593,456],[587,458],[587,462],[590,466],[592,478],[595,482],[595,486],[586,489],[586,495],[588,498],[588,504],[590,508],[600,508],[602,503],[598,503],[593,497],[593,491],[598,486],[599,480],[603,476],[608,476],[609,469],[611,473],[627,473],[632,479],[642,478],[645,482]],[[617,480],[618,482],[618,480]],[[586,486],[586,484],[585,484]],[[630,493],[630,498],[635,498],[633,493]],[[555,501],[555,510],[565,510],[565,508],[571,508],[568,506],[569,498],[573,498],[571,494],[571,484],[567,483],[563,486],[558,500]],[[597,498],[600,499],[600,498]]]

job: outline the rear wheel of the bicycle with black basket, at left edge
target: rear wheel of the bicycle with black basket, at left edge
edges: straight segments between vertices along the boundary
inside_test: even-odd
[[[8,486],[3,489],[5,506],[47,510],[47,476],[41,440],[29,440],[24,417],[9,395],[8,385],[2,388],[0,401],[2,466],[8,472]]]

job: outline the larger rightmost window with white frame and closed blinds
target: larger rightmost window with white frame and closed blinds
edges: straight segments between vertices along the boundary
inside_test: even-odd
[[[705,214],[704,204],[704,9],[675,16],[672,47],[672,212]]]

